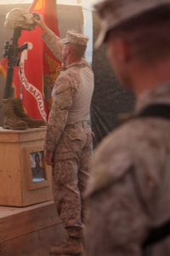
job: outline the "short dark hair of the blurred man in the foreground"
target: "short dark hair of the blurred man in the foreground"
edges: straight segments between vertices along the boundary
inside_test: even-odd
[[[111,29],[107,38],[120,37],[140,61],[154,63],[170,56],[170,4],[147,11]]]

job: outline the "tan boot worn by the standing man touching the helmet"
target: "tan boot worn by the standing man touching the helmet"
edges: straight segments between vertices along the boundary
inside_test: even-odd
[[[54,255],[82,255],[82,241],[81,239],[70,237],[68,241],[63,242],[60,246],[52,247],[50,253]]]

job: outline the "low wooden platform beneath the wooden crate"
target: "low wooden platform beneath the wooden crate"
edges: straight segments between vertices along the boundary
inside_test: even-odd
[[[0,255],[48,256],[65,239],[54,201],[31,207],[0,207]]]

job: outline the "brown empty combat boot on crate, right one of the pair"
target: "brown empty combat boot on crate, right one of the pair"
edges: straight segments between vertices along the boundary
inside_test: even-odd
[[[26,114],[20,98],[14,98],[14,112],[27,123],[29,128],[38,128],[46,125],[43,119],[32,119]]]

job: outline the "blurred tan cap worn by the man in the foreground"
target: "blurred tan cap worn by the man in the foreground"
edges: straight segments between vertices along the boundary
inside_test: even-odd
[[[95,46],[105,42],[106,34],[112,28],[163,4],[170,4],[170,0],[102,0],[94,4],[101,18],[101,32]]]

